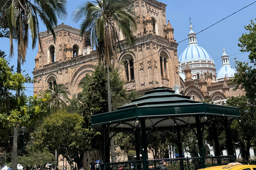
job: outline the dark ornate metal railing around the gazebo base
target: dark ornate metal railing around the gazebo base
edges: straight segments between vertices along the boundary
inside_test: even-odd
[[[159,162],[162,159],[149,159],[147,160],[148,169],[156,170]],[[202,157],[193,158],[172,158],[164,159],[166,161],[166,167],[169,170],[196,170],[204,168]],[[236,162],[236,156],[210,156],[205,157],[205,167],[227,165],[229,163]],[[103,170],[142,170],[142,160],[118,162],[118,163],[105,163],[101,165]],[[145,168],[146,169],[146,168]]]

